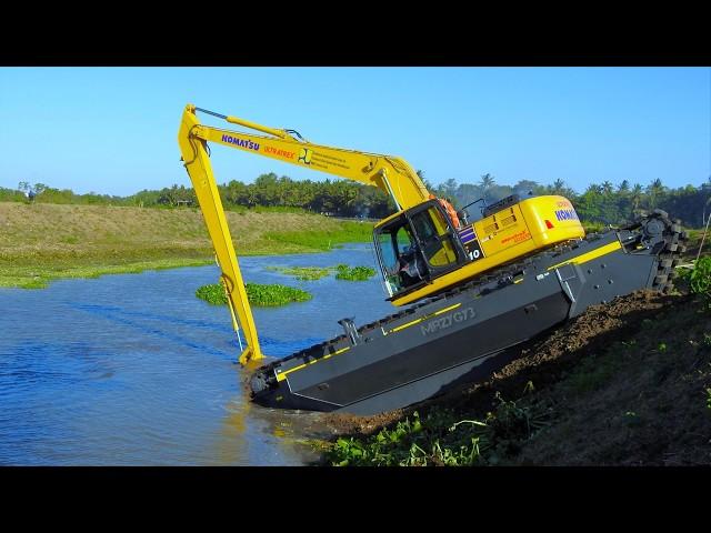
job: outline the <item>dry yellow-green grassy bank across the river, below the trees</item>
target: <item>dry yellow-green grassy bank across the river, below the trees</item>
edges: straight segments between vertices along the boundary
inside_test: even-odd
[[[321,252],[372,233],[371,224],[317,214],[226,214],[238,255]],[[198,209],[0,202],[0,286],[211,262]]]

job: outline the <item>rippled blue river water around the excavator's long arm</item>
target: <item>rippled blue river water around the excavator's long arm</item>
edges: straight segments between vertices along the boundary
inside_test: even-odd
[[[242,258],[246,281],[284,283],[309,302],[254,309],[264,353],[281,358],[393,312],[373,278],[299,282],[268,265],[373,265],[370,247]],[[217,266],[0,289],[0,464],[299,465],[319,415],[246,398],[226,308],[194,296]]]

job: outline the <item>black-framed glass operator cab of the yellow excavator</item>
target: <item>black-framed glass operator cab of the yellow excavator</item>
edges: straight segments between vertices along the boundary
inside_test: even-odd
[[[375,227],[373,241],[388,300],[469,262],[454,224],[438,200],[385,219]]]

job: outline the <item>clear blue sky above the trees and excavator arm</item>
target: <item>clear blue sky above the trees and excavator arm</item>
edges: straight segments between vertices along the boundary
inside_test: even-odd
[[[435,184],[711,177],[709,68],[0,68],[0,187],[188,187],[177,132],[189,102],[400,155]],[[224,147],[212,164],[220,183],[328,177]]]

